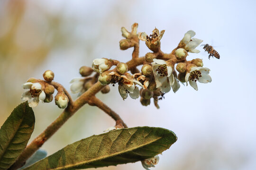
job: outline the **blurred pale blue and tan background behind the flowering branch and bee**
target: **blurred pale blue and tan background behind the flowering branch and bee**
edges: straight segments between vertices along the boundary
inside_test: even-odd
[[[157,110],[139,99],[123,101],[118,87],[97,96],[115,110],[128,127],[154,126],[174,131],[178,140],[160,155],[153,170],[255,170],[256,90],[254,0],[1,0],[0,1],[0,125],[20,102],[22,84],[43,78],[45,70],[69,90],[79,68],[96,58],[126,62],[132,49],[121,51],[121,27],[151,34],[165,29],[162,51],[171,52],[188,30],[214,46],[220,59],[208,59],[202,47],[188,60],[203,59],[212,82],[199,90],[181,86],[165,94]],[[140,43],[140,56],[149,50]],[[69,90],[70,92],[70,90]],[[73,95],[73,99],[77,95]],[[54,102],[34,109],[39,135],[62,112]],[[85,105],[43,146],[49,154],[114,126],[98,108]],[[142,170],[140,162],[99,170]]]

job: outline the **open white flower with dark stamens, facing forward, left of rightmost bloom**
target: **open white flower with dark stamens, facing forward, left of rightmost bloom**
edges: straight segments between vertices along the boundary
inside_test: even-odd
[[[167,66],[165,60],[153,59],[152,68],[155,75],[156,88],[160,88],[162,92],[167,93],[174,85],[173,68]]]

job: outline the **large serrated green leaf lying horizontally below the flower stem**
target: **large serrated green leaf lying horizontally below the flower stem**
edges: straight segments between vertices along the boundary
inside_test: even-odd
[[[162,153],[176,140],[174,132],[160,127],[123,128],[67,145],[24,170],[76,170],[136,162]]]

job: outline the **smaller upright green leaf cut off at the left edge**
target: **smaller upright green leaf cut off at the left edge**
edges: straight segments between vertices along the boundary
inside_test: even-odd
[[[34,130],[35,115],[27,104],[18,105],[0,128],[0,170],[8,169],[25,149]]]

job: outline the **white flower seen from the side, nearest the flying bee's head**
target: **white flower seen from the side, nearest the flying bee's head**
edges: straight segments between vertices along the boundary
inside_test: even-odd
[[[195,48],[203,41],[197,38],[192,38],[193,36],[195,36],[195,32],[192,30],[188,31],[184,35],[182,39],[182,42],[185,43],[184,49],[188,52],[199,53],[200,51],[196,50]]]

